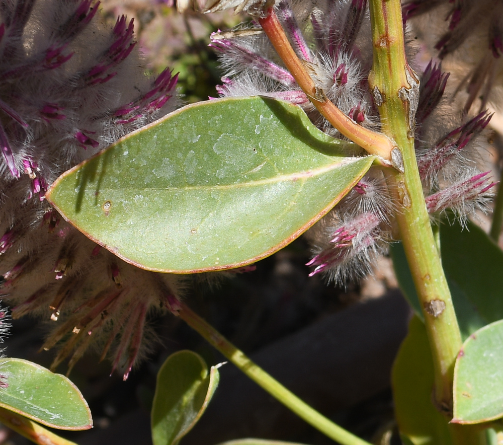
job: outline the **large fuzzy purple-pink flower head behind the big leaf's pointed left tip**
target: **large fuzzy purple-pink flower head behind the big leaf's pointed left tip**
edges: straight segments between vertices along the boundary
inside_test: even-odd
[[[53,366],[89,345],[126,379],[153,334],[147,318],[176,311],[179,280],[124,263],[44,200],[61,173],[174,110],[177,76],[145,77],[133,21],[99,19],[94,0],[0,0],[0,274],[13,317],[52,320]]]

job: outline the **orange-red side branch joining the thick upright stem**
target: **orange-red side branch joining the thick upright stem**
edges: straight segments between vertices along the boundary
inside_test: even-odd
[[[299,87],[326,120],[371,155],[391,161],[391,151],[395,146],[393,141],[382,133],[358,125],[326,98],[309,75],[307,64],[295,53],[272,8],[267,11],[265,18],[259,19],[259,23]]]

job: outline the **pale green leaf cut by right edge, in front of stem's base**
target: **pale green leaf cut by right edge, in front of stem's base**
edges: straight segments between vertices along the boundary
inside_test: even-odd
[[[463,343],[454,367],[454,423],[503,417],[503,320],[484,326]]]

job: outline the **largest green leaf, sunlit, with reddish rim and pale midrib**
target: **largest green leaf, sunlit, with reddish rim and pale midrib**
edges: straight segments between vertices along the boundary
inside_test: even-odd
[[[189,105],[62,175],[46,194],[80,231],[139,267],[225,269],[292,242],[368,171],[349,142],[270,98]]]

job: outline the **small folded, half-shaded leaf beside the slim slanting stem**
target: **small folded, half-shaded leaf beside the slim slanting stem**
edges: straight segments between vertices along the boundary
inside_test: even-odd
[[[172,445],[180,441],[197,423],[217,388],[218,366],[208,367],[195,352],[179,351],[170,355],[157,374],[152,406],[154,445]]]

